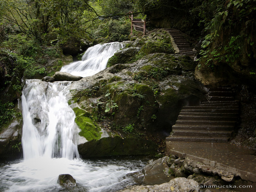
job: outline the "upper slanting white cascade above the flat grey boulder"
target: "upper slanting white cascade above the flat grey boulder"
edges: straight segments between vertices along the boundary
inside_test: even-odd
[[[121,48],[123,44],[120,42],[97,44],[86,50],[81,61],[65,65],[60,71],[81,77],[94,75],[105,69],[108,59]]]

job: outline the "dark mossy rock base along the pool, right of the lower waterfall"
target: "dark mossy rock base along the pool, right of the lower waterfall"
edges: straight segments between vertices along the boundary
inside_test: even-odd
[[[85,157],[154,154],[157,144],[151,140],[132,137],[105,137],[78,145],[79,154]]]

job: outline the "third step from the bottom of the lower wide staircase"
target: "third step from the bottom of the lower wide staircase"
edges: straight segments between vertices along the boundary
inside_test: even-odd
[[[214,130],[214,131],[233,131],[233,126],[223,126],[223,125],[191,125],[191,124],[175,124],[172,126],[172,130]]]

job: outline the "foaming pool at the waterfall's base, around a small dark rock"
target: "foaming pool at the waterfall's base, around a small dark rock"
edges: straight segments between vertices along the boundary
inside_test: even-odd
[[[108,159],[38,158],[16,160],[0,166],[0,191],[88,191],[113,192],[127,185],[139,184],[127,176],[141,170],[149,157],[119,157]],[[58,183],[59,174],[72,175],[78,187],[65,189]]]

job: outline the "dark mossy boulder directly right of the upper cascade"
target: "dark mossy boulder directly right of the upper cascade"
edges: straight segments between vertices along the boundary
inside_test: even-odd
[[[129,63],[135,61],[135,55],[139,52],[138,47],[128,47],[117,51],[110,59],[108,59],[107,67],[118,63]]]

